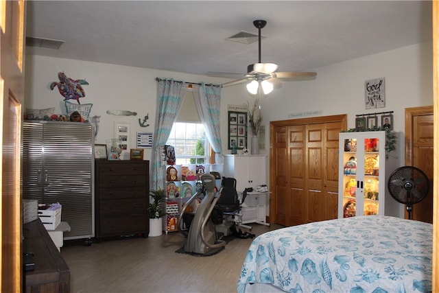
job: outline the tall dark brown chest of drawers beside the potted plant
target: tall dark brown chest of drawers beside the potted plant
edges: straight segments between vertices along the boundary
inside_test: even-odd
[[[150,233],[149,161],[95,160],[95,237]]]

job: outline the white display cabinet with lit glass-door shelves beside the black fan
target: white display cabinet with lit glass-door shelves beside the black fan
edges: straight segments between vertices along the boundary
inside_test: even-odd
[[[385,131],[340,133],[338,218],[355,215],[401,217],[403,206],[390,196],[387,181],[398,167],[386,159]]]

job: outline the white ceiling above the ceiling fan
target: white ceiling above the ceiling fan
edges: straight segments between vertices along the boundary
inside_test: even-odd
[[[262,62],[311,71],[431,40],[431,1],[27,1],[26,36],[65,40],[27,54],[207,75]]]

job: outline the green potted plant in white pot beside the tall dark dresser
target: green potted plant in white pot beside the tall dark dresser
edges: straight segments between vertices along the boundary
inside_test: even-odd
[[[165,207],[166,193],[163,189],[150,190],[150,204],[148,212],[150,213],[150,234],[149,236],[162,235],[162,217],[166,215]]]

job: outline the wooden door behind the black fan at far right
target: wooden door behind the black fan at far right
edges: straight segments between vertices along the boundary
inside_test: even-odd
[[[405,165],[418,167],[429,178],[426,198],[413,205],[412,219],[433,223],[433,106],[405,109]],[[405,218],[408,213],[405,211]]]

